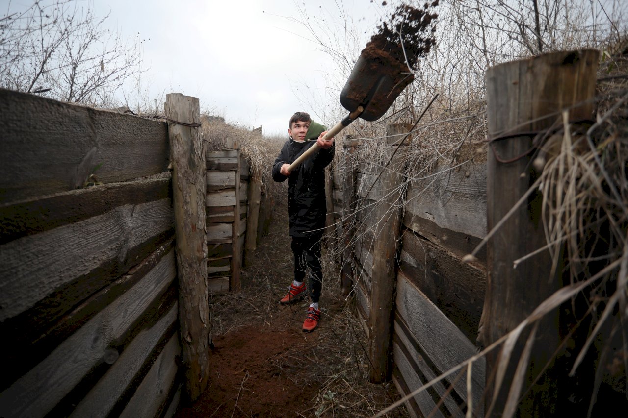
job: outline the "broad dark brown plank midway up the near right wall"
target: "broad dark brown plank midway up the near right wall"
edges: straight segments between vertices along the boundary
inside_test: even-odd
[[[465,333],[477,338],[486,292],[486,271],[464,263],[430,241],[406,230],[400,267],[410,281]]]

